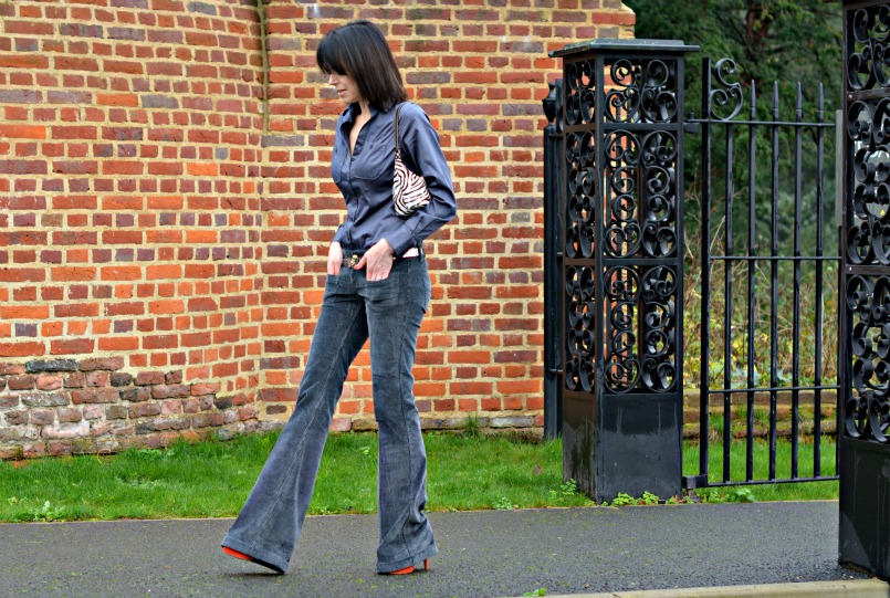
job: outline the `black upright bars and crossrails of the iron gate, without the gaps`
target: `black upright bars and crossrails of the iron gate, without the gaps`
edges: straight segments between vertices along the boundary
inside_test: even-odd
[[[702,244],[701,244],[701,263],[702,263],[702,358],[701,358],[701,390],[700,390],[700,402],[701,402],[701,420],[700,420],[700,455],[699,455],[699,475],[688,476],[685,479],[685,485],[689,489],[699,487],[703,485],[737,485],[737,484],[748,484],[748,483],[776,483],[776,482],[798,482],[798,481],[809,481],[809,480],[828,480],[828,479],[836,479],[837,476],[823,476],[821,475],[821,466],[820,466],[820,459],[821,459],[821,422],[820,422],[820,415],[821,415],[821,392],[824,390],[831,390],[831,389],[839,389],[838,386],[825,386],[821,380],[821,349],[823,349],[823,306],[821,306],[821,297],[824,295],[824,285],[821,281],[821,276],[824,275],[824,267],[823,264],[825,261],[831,261],[837,263],[839,261],[838,256],[826,256],[824,254],[824,246],[823,246],[823,235],[824,235],[824,227],[823,227],[823,218],[824,218],[824,210],[821,206],[821,201],[824,199],[824,185],[823,185],[823,175],[825,172],[825,140],[824,140],[824,129],[828,127],[834,127],[834,123],[825,123],[824,119],[824,92],[821,85],[819,86],[819,97],[818,97],[818,108],[817,108],[817,120],[815,123],[805,122],[803,118],[803,92],[800,88],[800,84],[797,85],[797,96],[796,96],[796,106],[795,106],[795,118],[794,120],[785,120],[782,119],[779,113],[779,102],[778,102],[778,83],[775,83],[773,86],[773,105],[772,105],[772,118],[769,120],[758,120],[756,116],[756,87],[752,82],[751,85],[751,98],[750,98],[750,117],[747,119],[736,119],[735,116],[741,112],[742,107],[742,93],[741,93],[741,84],[739,83],[729,83],[724,75],[734,73],[735,65],[732,61],[727,59],[723,59],[718,61],[716,65],[712,69],[712,62],[710,57],[705,57],[703,60],[703,69],[702,72],[704,74],[704,78],[702,82],[702,111],[703,116],[702,118],[694,118],[694,116],[690,116],[688,119],[689,125],[691,125],[691,130],[695,130],[699,128],[702,133]],[[714,88],[712,85],[712,76],[716,78],[718,83],[721,85],[718,88]],[[731,104],[731,102],[735,102],[735,106],[730,106],[733,108],[732,113],[729,116],[720,116],[716,113],[716,108],[720,106],[726,106]],[[712,180],[712,171],[713,171],[713,159],[712,159],[712,127],[721,125],[723,126],[723,130],[725,132],[725,170],[724,170],[724,182],[723,182],[723,190],[725,195],[725,209],[724,209],[724,235],[725,235],[725,248],[726,251],[724,255],[712,255],[710,253],[710,244],[711,244],[711,209],[713,204],[713,180]],[[733,168],[734,162],[734,154],[735,154],[735,127],[736,126],[744,126],[747,128],[748,135],[748,192],[747,192],[747,214],[748,214],[748,228],[747,228],[747,255],[731,255],[730,252],[734,246],[734,229],[733,229],[733,218],[732,214],[734,212],[733,206],[733,198],[735,197],[735,174]],[[773,208],[771,211],[769,218],[769,230],[771,230],[771,244],[769,244],[769,255],[757,255],[756,254],[756,245],[757,245],[757,238],[756,238],[756,168],[754,165],[756,164],[756,129],[758,126],[766,126],[771,133],[771,197],[773,199]],[[779,246],[778,246],[778,232],[779,232],[779,218],[778,218],[778,209],[777,209],[777,200],[779,197],[779,149],[781,149],[781,130],[784,128],[789,128],[794,132],[794,157],[793,157],[793,167],[794,167],[794,237],[793,237],[793,245],[794,251],[793,255],[781,255],[779,254]],[[803,132],[805,129],[813,129],[816,130],[816,171],[818,174],[817,182],[816,182],[816,255],[803,255],[802,251],[802,237],[800,237],[800,227],[802,227],[802,218],[804,213],[803,209]],[[724,310],[723,310],[723,389],[711,389],[710,388],[710,361],[711,361],[711,346],[710,346],[710,335],[711,335],[711,322],[710,322],[710,303],[711,303],[711,267],[713,264],[722,262],[724,264],[724,272],[723,272],[723,293],[724,293]],[[731,264],[732,263],[747,263],[747,296],[746,296],[746,314],[747,314],[747,371],[746,371],[746,382],[747,388],[733,388],[732,387],[732,315],[734,313],[734,305],[733,305],[733,271]],[[755,298],[756,298],[756,263],[768,263],[769,264],[769,298],[771,298],[771,308],[769,308],[769,336],[771,336],[771,346],[769,346],[769,385],[767,387],[755,387],[755,338],[754,338],[754,318],[755,314]],[[803,329],[803,324],[799,314],[799,305],[800,305],[800,297],[802,297],[802,264],[813,262],[815,263],[816,267],[816,313],[814,315],[814,329],[816,331],[816,338],[815,338],[815,347],[814,347],[814,359],[815,359],[815,367],[814,367],[814,385],[800,385],[800,343],[799,336]],[[793,269],[793,324],[792,324],[792,385],[790,386],[779,386],[778,380],[778,284],[779,284],[779,265],[782,263],[789,263],[790,267]],[[814,476],[813,478],[800,478],[799,476],[799,433],[800,433],[800,421],[799,421],[799,406],[800,406],[800,395],[802,390],[812,390],[813,391],[813,401],[814,401]],[[757,481],[754,480],[754,403],[755,403],[755,396],[758,392],[768,392],[769,396],[769,427],[768,427],[768,442],[769,442],[769,472],[768,472],[768,480],[765,481]],[[787,479],[778,479],[776,472],[776,445],[777,445],[777,437],[778,437],[778,423],[777,423],[777,407],[778,407],[778,394],[790,394],[790,402],[792,402],[792,432],[790,432],[790,442],[792,442],[792,471],[790,476]],[[732,443],[732,397],[733,395],[742,395],[745,396],[745,407],[746,407],[746,449],[745,449],[745,481],[744,482],[733,482],[731,481],[731,455],[730,455],[730,447]],[[721,482],[712,482],[709,480],[709,431],[710,431],[710,397],[711,396],[721,396],[723,397],[723,471],[721,476]]]

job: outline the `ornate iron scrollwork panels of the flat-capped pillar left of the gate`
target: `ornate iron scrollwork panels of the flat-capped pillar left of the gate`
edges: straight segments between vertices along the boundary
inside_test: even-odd
[[[596,64],[565,70],[565,388],[668,392],[678,377],[678,66],[609,59],[609,87],[597,90]]]

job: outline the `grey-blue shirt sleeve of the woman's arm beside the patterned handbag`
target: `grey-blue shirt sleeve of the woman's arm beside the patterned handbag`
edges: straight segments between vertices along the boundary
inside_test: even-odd
[[[458,213],[451,171],[442,153],[439,134],[420,106],[406,103],[399,114],[402,160],[426,180],[430,202],[406,218],[400,228],[386,235],[396,255],[402,255],[410,248],[420,245],[427,237]]]

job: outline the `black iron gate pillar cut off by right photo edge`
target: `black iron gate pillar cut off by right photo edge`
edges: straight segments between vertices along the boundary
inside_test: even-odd
[[[840,563],[890,579],[890,3],[844,2]]]

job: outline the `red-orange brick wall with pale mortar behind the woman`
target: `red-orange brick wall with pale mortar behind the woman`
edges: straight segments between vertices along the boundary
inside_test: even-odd
[[[541,423],[547,51],[631,35],[618,0],[0,0],[0,445],[101,450],[287,416],[343,216],[327,166],[342,105],[314,49],[353,18],[386,30],[457,183],[460,216],[428,243],[425,424]],[[374,426],[367,353],[356,366],[337,430]],[[91,371],[113,374],[78,402]],[[154,390],[171,385],[188,395]],[[60,433],[92,440],[50,448]]]

